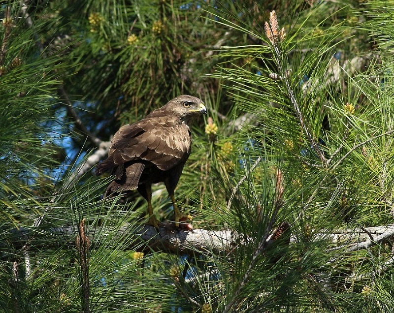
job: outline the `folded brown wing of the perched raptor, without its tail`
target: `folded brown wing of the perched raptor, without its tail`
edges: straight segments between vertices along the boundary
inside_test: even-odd
[[[116,165],[132,160],[152,162],[169,170],[186,162],[191,150],[191,133],[173,116],[147,117],[119,129],[112,140],[110,157]]]

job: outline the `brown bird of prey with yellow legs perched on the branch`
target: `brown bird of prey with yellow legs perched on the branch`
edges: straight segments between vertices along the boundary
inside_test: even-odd
[[[202,114],[206,114],[206,108],[199,98],[180,95],[146,118],[120,127],[111,141],[108,157],[96,167],[97,175],[107,171],[114,175],[104,197],[137,189],[148,202],[148,224],[158,228],[151,184],[164,182],[178,227],[185,216],[176,205],[174,191],[191,153],[192,133],[188,123]]]

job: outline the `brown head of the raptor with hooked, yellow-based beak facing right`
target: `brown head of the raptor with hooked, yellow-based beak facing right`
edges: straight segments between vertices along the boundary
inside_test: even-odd
[[[188,122],[199,115],[206,114],[206,107],[201,99],[192,95],[182,94],[164,105],[165,109],[178,115],[182,121]]]

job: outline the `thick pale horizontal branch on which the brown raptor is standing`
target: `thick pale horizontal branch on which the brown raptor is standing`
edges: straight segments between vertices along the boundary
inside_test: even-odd
[[[136,251],[163,251],[174,254],[201,254],[229,253],[242,243],[237,233],[231,230],[205,230],[195,229],[193,232],[172,231],[165,227],[160,228],[160,233],[152,226],[143,225],[137,227],[123,226],[94,227],[88,226],[86,234],[92,243],[92,249],[100,245],[118,244],[124,241],[124,249]],[[77,226],[64,226],[51,228],[47,231],[33,231],[27,228],[14,229],[10,233],[10,239],[16,247],[22,247],[26,241],[34,236],[34,247],[49,246],[75,246],[78,236]],[[370,240],[373,237],[373,241]],[[384,240],[394,237],[394,225],[366,227],[362,229],[341,229],[336,232],[318,233],[314,240],[325,240],[338,244],[338,248],[349,252],[366,249],[379,244]],[[108,240],[108,238],[111,238]],[[242,237],[243,238],[243,237]],[[269,241],[270,237],[267,238]],[[291,242],[296,238],[292,236]],[[20,244],[20,245],[18,245]],[[1,250],[1,249],[0,249]]]

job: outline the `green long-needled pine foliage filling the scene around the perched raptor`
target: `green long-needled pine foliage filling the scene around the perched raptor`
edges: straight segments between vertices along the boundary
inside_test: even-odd
[[[390,312],[393,234],[330,240],[393,220],[394,9],[364,2],[1,2],[0,312]],[[176,197],[222,253],[119,236],[145,201],[85,169],[178,94],[209,114]]]

